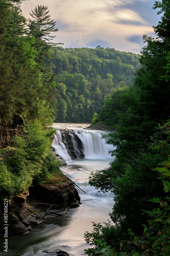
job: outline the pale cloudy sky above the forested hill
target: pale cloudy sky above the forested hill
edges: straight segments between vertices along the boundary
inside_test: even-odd
[[[160,20],[154,0],[29,0],[21,4],[23,16],[30,17],[36,6],[48,7],[56,22],[53,42],[64,48],[114,48],[140,53],[142,35],[154,36]]]

